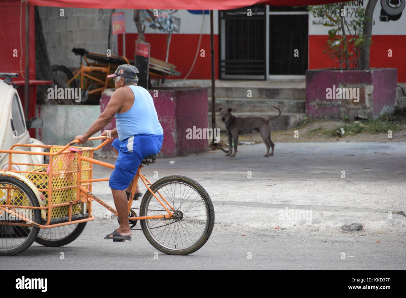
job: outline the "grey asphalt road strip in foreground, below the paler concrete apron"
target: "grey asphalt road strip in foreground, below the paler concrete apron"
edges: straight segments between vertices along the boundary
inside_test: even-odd
[[[186,256],[166,255],[149,244],[142,231],[131,242],[103,237],[115,223],[89,223],[66,247],[33,244],[15,257],[2,257],[1,269],[148,270],[148,269],[274,269],[274,270],[404,270],[404,234],[319,236],[285,230],[252,230],[218,225],[208,242]],[[338,232],[337,232],[338,233]],[[242,236],[245,235],[245,236]],[[403,237],[402,241],[400,238]],[[377,239],[381,242],[376,243]],[[341,259],[342,253],[345,259]],[[63,253],[63,254],[62,254]],[[64,259],[61,259],[63,255]],[[251,259],[248,257],[251,256]]]

